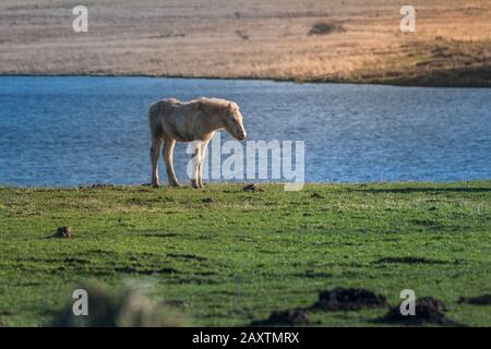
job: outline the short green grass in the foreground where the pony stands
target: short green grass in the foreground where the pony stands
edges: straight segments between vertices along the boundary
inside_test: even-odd
[[[491,290],[491,181],[261,188],[0,188],[0,323],[46,325],[80,282],[133,279],[195,325],[246,325],[333,287],[394,305],[410,288],[491,325],[490,305],[457,303]],[[75,237],[50,239],[60,226]],[[352,326],[384,313],[310,316]]]

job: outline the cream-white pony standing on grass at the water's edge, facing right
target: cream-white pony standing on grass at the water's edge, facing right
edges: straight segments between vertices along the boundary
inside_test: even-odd
[[[226,130],[232,137],[243,141],[247,137],[239,106],[226,99],[199,98],[179,101],[166,98],[151,105],[148,122],[152,137],[152,185],[159,186],[158,155],[164,143],[163,155],[170,185],[180,186],[173,172],[172,154],[176,141],[197,141],[194,157],[193,188],[203,188],[202,163],[209,140],[216,131]]]

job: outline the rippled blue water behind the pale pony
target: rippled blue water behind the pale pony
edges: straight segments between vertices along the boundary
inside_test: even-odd
[[[148,182],[147,107],[168,96],[237,101],[250,140],[304,140],[309,182],[491,178],[490,88],[2,76],[0,184]]]

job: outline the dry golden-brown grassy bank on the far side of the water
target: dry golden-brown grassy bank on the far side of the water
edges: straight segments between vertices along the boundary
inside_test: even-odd
[[[403,34],[399,0],[92,0],[74,33],[77,1],[3,0],[0,73],[491,86],[489,1],[410,3]]]

